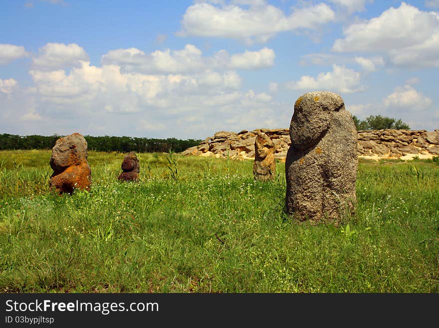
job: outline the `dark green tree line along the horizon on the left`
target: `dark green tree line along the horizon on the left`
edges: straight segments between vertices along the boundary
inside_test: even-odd
[[[52,149],[60,135],[42,136],[26,135],[20,136],[15,134],[0,134],[0,150],[14,149]],[[202,140],[187,139],[180,140],[176,138],[154,139],[154,138],[136,138],[136,137],[114,137],[114,136],[84,136],[87,141],[88,149],[95,151],[118,151],[139,153],[153,152],[182,152],[190,147],[198,145]]]

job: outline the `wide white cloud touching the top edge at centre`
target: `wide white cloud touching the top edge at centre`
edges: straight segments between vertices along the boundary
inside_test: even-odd
[[[249,8],[234,4],[195,3],[186,9],[182,30],[177,35],[265,42],[282,31],[316,29],[335,20],[334,11],[325,3],[295,9],[290,15],[285,15],[278,7],[263,1],[245,2],[250,4]]]

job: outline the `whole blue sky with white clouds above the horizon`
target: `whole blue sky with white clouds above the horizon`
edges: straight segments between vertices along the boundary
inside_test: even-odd
[[[0,133],[288,128],[308,91],[439,129],[439,0],[1,0]]]

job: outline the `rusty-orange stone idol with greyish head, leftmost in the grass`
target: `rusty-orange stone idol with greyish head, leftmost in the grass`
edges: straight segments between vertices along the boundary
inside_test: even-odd
[[[52,148],[49,180],[51,190],[71,194],[74,189],[90,190],[91,168],[87,162],[87,141],[79,133],[59,138]]]

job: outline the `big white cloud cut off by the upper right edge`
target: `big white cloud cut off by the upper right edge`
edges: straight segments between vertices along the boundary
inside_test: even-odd
[[[395,65],[439,66],[439,13],[402,2],[379,17],[355,23],[335,40],[337,52],[382,52]]]

